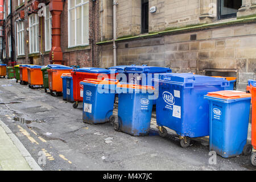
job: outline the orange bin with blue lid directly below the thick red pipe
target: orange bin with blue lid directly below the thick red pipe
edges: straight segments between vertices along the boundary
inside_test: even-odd
[[[49,90],[52,96],[57,97],[63,91],[61,75],[70,73],[73,68],[59,64],[49,64],[47,67]]]

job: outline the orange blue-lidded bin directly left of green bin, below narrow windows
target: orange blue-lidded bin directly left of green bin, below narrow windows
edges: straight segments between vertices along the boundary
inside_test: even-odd
[[[28,65],[27,67],[27,79],[29,88],[43,88],[43,73],[41,71],[42,66]]]

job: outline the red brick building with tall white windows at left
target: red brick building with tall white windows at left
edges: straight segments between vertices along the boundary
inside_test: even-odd
[[[52,49],[52,12],[60,11],[61,64],[98,66],[98,1],[90,0],[6,0],[3,62],[47,65]],[[53,40],[55,41],[55,40]]]

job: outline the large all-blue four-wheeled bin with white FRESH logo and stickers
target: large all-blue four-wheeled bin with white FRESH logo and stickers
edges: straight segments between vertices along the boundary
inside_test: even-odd
[[[209,135],[209,104],[204,100],[208,92],[224,90],[229,82],[190,73],[163,73],[159,80],[156,100],[156,123],[159,135],[166,137],[164,126],[176,131],[180,146],[188,147],[190,138]]]

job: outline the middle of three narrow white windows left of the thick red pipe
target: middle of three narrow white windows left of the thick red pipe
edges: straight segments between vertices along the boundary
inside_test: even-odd
[[[30,53],[37,53],[39,52],[39,20],[38,14],[32,14],[29,16],[29,30],[30,30]]]

